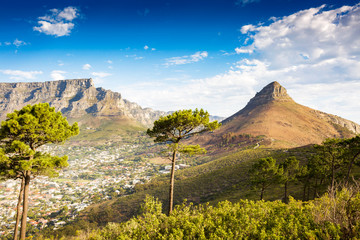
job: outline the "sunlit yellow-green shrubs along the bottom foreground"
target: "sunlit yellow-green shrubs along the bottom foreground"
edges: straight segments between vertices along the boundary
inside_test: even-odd
[[[220,202],[216,207],[186,203],[171,216],[147,197],[143,213],[101,230],[78,232],[75,239],[358,239],[360,193],[330,191],[310,202]]]

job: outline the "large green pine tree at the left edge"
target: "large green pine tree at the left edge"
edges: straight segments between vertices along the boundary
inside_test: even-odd
[[[37,175],[56,175],[56,170],[66,167],[67,157],[51,156],[38,148],[47,143],[61,143],[79,133],[77,123],[70,126],[60,112],[48,103],[27,105],[7,115],[1,123],[0,140],[3,154],[0,175],[4,178],[20,178],[21,187],[17,207],[19,220],[20,203],[22,220],[20,239],[25,239],[28,214],[30,181]],[[15,226],[14,239],[17,239]]]

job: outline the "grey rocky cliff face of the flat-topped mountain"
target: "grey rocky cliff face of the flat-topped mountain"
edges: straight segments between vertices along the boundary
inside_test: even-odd
[[[126,116],[151,125],[164,112],[141,108],[123,99],[120,93],[95,88],[92,79],[30,83],[0,83],[0,120],[27,104],[48,102],[68,118]]]

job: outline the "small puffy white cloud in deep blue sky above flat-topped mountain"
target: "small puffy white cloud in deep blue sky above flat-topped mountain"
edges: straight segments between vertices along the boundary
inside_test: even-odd
[[[56,37],[68,36],[75,24],[73,20],[79,16],[79,10],[75,7],[66,7],[63,10],[51,9],[50,15],[39,17],[40,26],[33,27],[34,31]]]

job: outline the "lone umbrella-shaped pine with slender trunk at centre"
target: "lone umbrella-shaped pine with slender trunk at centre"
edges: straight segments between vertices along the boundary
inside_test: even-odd
[[[155,138],[155,142],[169,143],[169,150],[171,151],[171,175],[170,175],[170,190],[169,190],[169,215],[173,209],[174,198],[174,176],[175,176],[175,161],[178,152],[188,154],[205,153],[205,149],[199,145],[180,145],[180,141],[192,135],[213,131],[220,127],[217,121],[209,122],[209,113],[203,109],[179,110],[168,116],[160,117],[154,122],[152,129],[147,130],[150,137]]]

